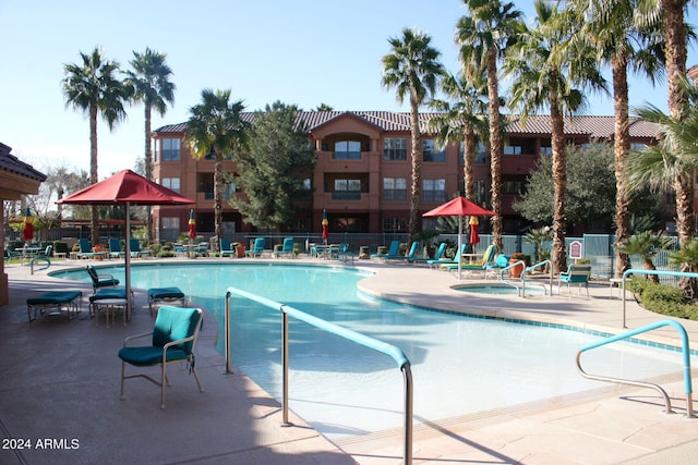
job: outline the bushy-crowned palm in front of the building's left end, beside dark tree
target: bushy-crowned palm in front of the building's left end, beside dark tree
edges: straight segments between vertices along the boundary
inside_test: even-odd
[[[242,100],[230,101],[230,90],[204,89],[202,102],[189,111],[185,144],[196,159],[213,151],[214,164],[214,222],[216,237],[222,237],[222,160],[231,158],[246,138],[249,123],[242,120]]]

